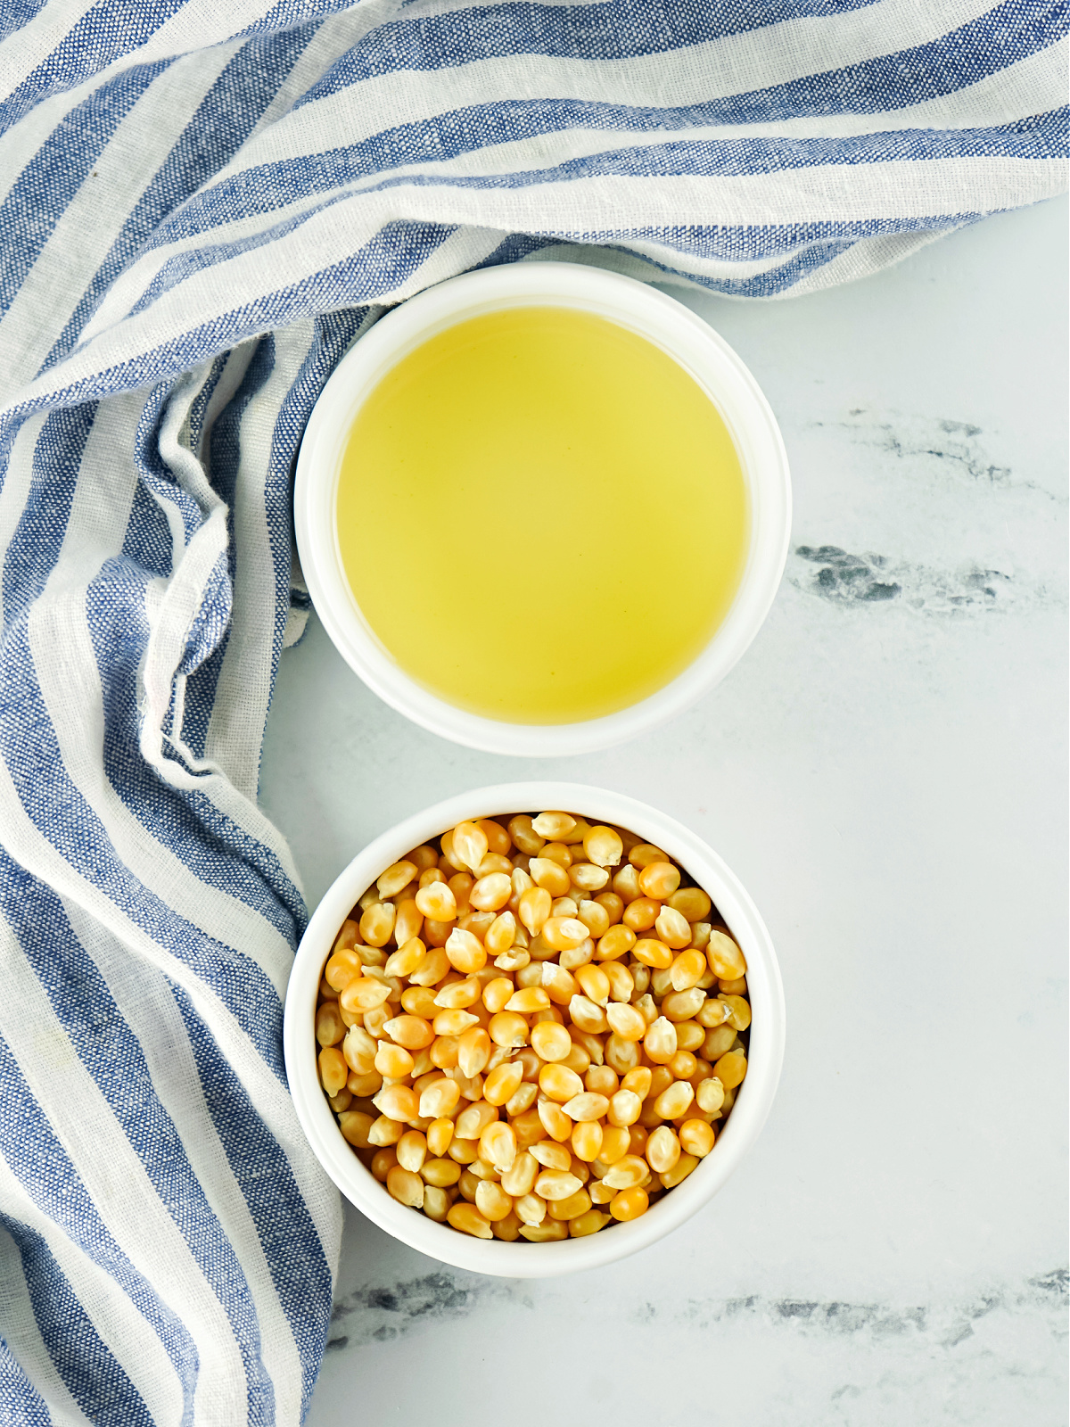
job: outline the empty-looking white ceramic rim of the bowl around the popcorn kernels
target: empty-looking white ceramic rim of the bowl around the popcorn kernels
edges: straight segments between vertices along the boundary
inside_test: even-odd
[[[496,1239],[472,1239],[445,1224],[437,1224],[414,1209],[405,1209],[364,1167],[342,1139],[320,1087],[314,1016],[317,986],[338,928],[357,898],[384,868],[462,818],[489,818],[525,809],[541,812],[545,808],[565,808],[593,822],[628,828],[663,848],[686,868],[713,898],[743,949],[753,1022],[748,1075],[736,1103],[713,1150],[688,1179],[632,1223],[606,1226],[598,1234],[561,1243],[509,1244]],[[345,1197],[368,1219],[412,1249],[458,1269],[509,1279],[545,1279],[625,1259],[678,1229],[716,1194],[758,1139],[773,1103],[785,1046],[783,987],[773,943],[758,909],[720,858],[695,833],[646,803],[602,788],[585,788],[579,783],[504,783],[459,793],[407,818],[352,859],[317,908],[297,950],[287,992],[284,1046],[290,1090],[312,1153]]]

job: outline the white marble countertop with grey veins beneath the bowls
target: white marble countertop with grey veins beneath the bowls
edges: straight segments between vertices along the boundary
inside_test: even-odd
[[[310,1427],[1066,1421],[1066,204],[865,283],[682,294],[780,421],[795,524],[742,664],[606,753],[506,759],[382,705],[311,621],[263,803],[310,905],[449,793],[655,802],[742,878],[788,997],[780,1093],[672,1237],[531,1283],[348,1212]]]

